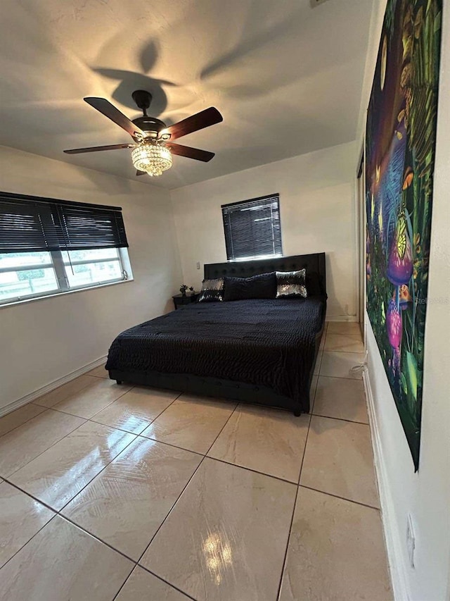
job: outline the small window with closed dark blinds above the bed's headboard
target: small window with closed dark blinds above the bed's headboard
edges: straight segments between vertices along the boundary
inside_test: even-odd
[[[229,261],[283,255],[278,194],[223,204],[221,209]]]

